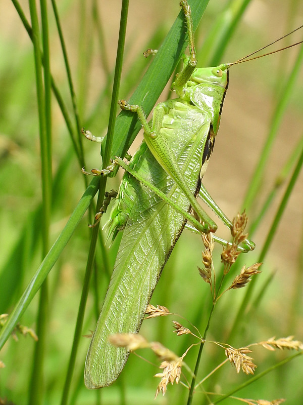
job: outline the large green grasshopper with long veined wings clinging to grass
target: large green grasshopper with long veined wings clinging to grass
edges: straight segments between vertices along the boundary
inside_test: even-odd
[[[199,194],[231,226],[201,185],[201,178],[219,129],[228,69],[247,57],[217,67],[196,68],[190,8],[186,0],[180,6],[187,25],[189,57],[184,59],[183,69],[172,85],[177,98],[158,104],[149,123],[140,106],[120,101],[121,108],[138,114],[144,141],[129,165],[116,157],[107,170],[93,172],[106,175],[116,165],[126,170],[105,225],[108,238],[113,235],[114,239],[122,229],[124,233],[86,357],[85,385],[91,389],[112,384],[121,373],[129,352],[112,346],[108,337],[139,331],[147,304],[186,221],[198,232],[216,231],[217,225],[197,203],[196,196]],[[83,133],[92,141],[102,141],[89,131]],[[218,237],[215,240],[226,244]],[[245,240],[242,250],[254,247],[253,242]]]

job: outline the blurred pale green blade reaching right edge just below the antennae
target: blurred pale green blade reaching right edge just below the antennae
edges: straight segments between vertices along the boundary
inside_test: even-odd
[[[249,211],[253,201],[256,198],[256,195],[259,192],[262,178],[264,176],[264,171],[267,165],[267,160],[273,147],[273,143],[275,141],[279,126],[281,124],[283,114],[287,108],[289,98],[291,96],[294,86],[296,85],[296,79],[301,68],[302,60],[303,60],[303,46],[300,47],[297,59],[293,65],[293,69],[289,74],[288,79],[286,80],[283,92],[281,92],[281,94],[283,94],[283,97],[279,98],[279,101],[274,110],[273,118],[270,125],[270,131],[266,143],[260,155],[260,159],[256,166],[255,173],[252,176],[251,182],[247,189],[246,196],[244,198],[242,205],[243,209],[245,208],[247,211]]]

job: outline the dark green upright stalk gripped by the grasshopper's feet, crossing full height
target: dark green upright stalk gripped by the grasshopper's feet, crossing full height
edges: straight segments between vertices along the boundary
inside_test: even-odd
[[[123,53],[124,53],[124,46],[125,46],[128,5],[129,5],[129,0],[123,0],[122,7],[121,7],[119,40],[118,40],[111,112],[110,112],[110,119],[109,119],[109,129],[108,129],[108,137],[107,137],[106,148],[105,148],[105,156],[104,156],[104,160],[103,160],[104,169],[107,168],[107,166],[110,163],[111,148],[112,148],[112,143],[113,143],[114,126],[115,126],[117,103],[118,103],[119,88],[120,88],[120,79],[121,79],[121,72],[122,72]],[[98,194],[98,200],[97,200],[97,206],[96,206],[97,210],[102,206],[103,199],[104,199],[104,193],[105,193],[105,187],[106,187],[106,177],[102,177],[102,179],[100,179],[99,194]],[[81,299],[80,299],[78,316],[77,316],[75,333],[74,333],[74,339],[73,339],[73,345],[72,345],[72,350],[71,350],[71,354],[70,354],[70,360],[69,360],[68,370],[67,370],[67,374],[66,374],[65,384],[64,384],[64,388],[63,388],[63,392],[62,392],[61,405],[67,404],[68,394],[69,394],[69,390],[70,390],[70,384],[72,381],[72,375],[73,375],[73,371],[74,371],[74,367],[75,367],[76,354],[77,354],[77,349],[78,349],[81,332],[82,332],[82,326],[83,326],[85,305],[86,305],[86,301],[87,301],[90,278],[91,278],[91,273],[92,273],[93,264],[94,264],[95,248],[96,248],[96,242],[97,242],[97,238],[98,238],[98,230],[99,230],[99,224],[97,224],[92,230],[90,248],[89,248],[89,252],[88,252],[87,265],[86,265],[86,270],[85,270],[83,288],[82,288],[82,293],[81,293]]]

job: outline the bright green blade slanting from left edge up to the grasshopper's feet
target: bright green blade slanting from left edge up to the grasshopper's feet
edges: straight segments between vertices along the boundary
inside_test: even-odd
[[[75,210],[73,211],[70,219],[65,225],[63,231],[58,236],[55,244],[52,246],[51,250],[49,250],[45,259],[37,269],[31,281],[29,282],[23,295],[15,305],[7,322],[0,331],[0,350],[4,346],[5,342],[8,340],[17,322],[19,321],[21,315],[25,312],[26,308],[28,307],[28,305],[30,304],[36,293],[39,291],[42,282],[46,278],[49,271],[52,270],[53,266],[55,265],[59,256],[61,255],[63,249],[67,245],[67,242],[72,236],[78,223],[80,222],[89,205],[91,204],[92,198],[97,192],[98,183],[99,183],[98,178],[92,179],[89,186],[82,195],[79,203],[77,204]]]

